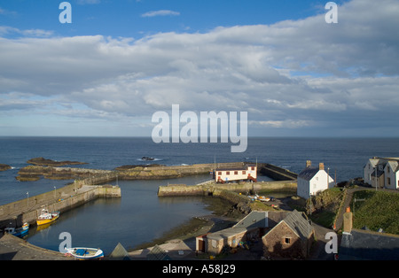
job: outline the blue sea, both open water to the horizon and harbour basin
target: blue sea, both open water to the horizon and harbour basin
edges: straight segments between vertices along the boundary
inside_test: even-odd
[[[242,153],[231,152],[231,143],[153,143],[151,137],[0,137],[0,205],[56,190],[71,181],[17,181],[20,168],[30,158],[70,160],[82,166],[112,170],[117,166],[161,164],[182,166],[202,163],[263,162],[300,173],[311,160],[323,162],[337,182],[363,176],[372,157],[399,157],[399,138],[250,137]],[[154,158],[144,161],[143,157]],[[101,248],[106,254],[121,243],[134,249],[159,238],[192,217],[208,215],[202,197],[157,197],[160,185],[193,185],[210,180],[208,174],[161,181],[113,181],[121,198],[98,199],[64,212],[49,228],[29,230],[27,242],[59,251],[68,233],[73,247]],[[261,176],[261,181],[270,181]]]

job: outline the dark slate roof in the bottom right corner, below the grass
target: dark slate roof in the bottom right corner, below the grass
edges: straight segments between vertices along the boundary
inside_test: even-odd
[[[339,259],[398,260],[399,236],[352,229],[342,235]]]

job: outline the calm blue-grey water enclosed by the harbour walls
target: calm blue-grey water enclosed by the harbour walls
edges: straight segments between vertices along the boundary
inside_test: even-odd
[[[204,176],[194,177],[195,181],[199,179],[204,180]],[[159,198],[157,190],[161,181],[118,183],[121,198],[99,198],[63,212],[50,227],[32,229],[27,241],[59,251],[63,240],[59,235],[68,232],[73,246],[100,247],[108,254],[118,243],[128,249],[134,248],[151,242],[194,216],[209,213],[202,197]]]

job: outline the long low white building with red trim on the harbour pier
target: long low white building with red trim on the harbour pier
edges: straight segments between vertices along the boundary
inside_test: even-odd
[[[215,181],[221,183],[228,181],[256,181],[256,171],[255,165],[247,165],[242,168],[216,169]]]

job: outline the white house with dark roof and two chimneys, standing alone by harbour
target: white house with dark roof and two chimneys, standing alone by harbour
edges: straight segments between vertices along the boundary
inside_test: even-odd
[[[334,180],[325,172],[325,164],[319,163],[318,167],[312,167],[311,161],[308,160],[306,168],[298,174],[296,194],[308,199],[311,195],[333,186]]]

